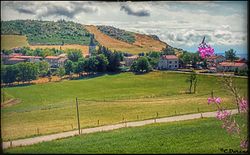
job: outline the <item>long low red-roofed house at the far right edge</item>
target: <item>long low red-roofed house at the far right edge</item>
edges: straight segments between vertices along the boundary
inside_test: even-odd
[[[236,68],[238,68],[238,70],[244,70],[248,69],[248,66],[244,62],[221,62],[217,65],[217,71],[235,71]]]

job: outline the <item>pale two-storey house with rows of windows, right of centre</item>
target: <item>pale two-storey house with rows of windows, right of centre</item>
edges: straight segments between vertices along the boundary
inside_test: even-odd
[[[179,68],[179,59],[175,55],[163,55],[160,57],[158,69],[176,70]]]

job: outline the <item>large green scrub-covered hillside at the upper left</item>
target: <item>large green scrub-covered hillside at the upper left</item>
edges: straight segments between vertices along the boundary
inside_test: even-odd
[[[26,35],[29,44],[89,44],[88,31],[78,23],[59,20],[1,21],[1,34]]]

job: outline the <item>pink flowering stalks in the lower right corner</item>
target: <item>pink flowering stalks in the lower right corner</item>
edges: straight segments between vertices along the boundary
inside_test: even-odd
[[[223,83],[227,87],[235,98],[235,104],[238,108],[238,112],[241,117],[247,118],[248,114],[248,101],[242,97],[240,97],[231,77],[223,77]],[[231,80],[229,80],[231,79]],[[222,128],[226,129],[229,134],[238,135],[241,139],[240,146],[242,149],[247,149],[248,146],[248,138],[246,135],[247,125],[245,123],[239,123],[236,121],[235,117],[231,114],[231,112],[227,111],[222,105],[222,99],[220,97],[214,97],[213,92],[211,93],[211,97],[207,99],[207,103],[209,105],[215,104],[217,107],[217,115],[216,118],[222,121]]]

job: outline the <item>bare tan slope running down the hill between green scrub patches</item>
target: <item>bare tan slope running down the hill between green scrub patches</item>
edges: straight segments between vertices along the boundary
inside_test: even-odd
[[[136,34],[136,41],[133,44],[129,44],[102,33],[97,27],[93,25],[85,25],[85,28],[95,35],[96,40],[103,46],[108,47],[112,50],[118,50],[123,52],[128,52],[132,54],[137,54],[140,52],[149,51],[160,51],[165,47],[165,43],[154,40],[153,38],[146,35]]]

